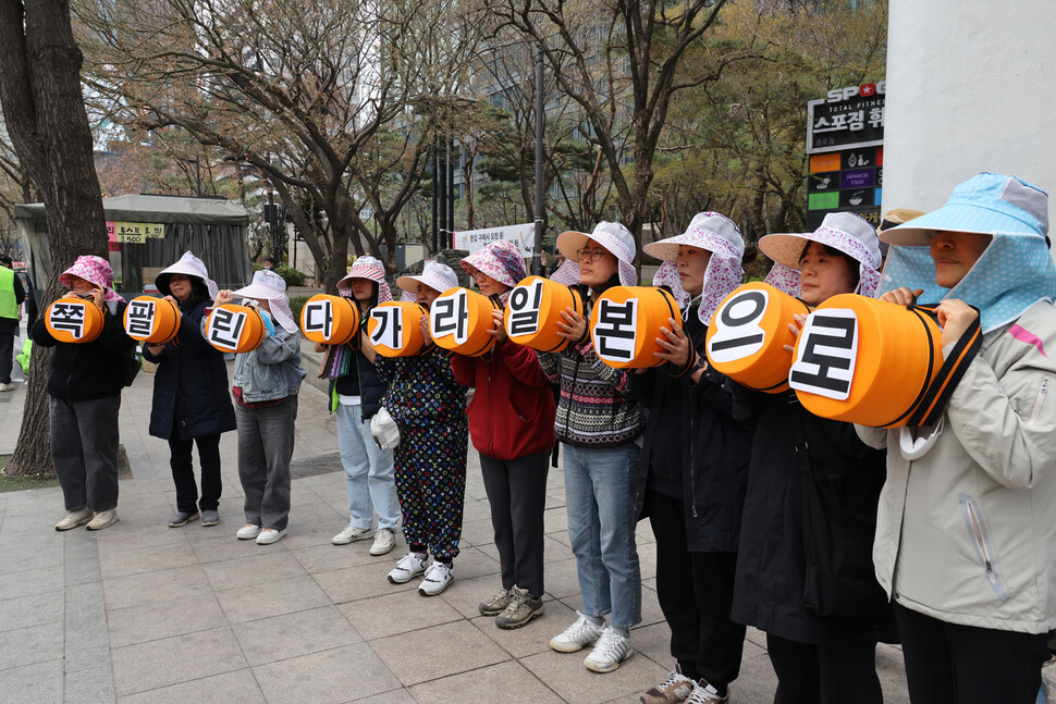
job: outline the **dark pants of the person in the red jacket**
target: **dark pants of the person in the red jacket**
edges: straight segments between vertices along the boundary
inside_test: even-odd
[[[502,568],[502,588],[517,585],[542,596],[543,520],[550,450],[517,459],[480,456],[491,504],[491,526]]]

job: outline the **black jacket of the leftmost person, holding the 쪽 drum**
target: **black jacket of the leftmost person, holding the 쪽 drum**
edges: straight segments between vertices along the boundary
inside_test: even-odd
[[[136,342],[125,334],[125,304],[108,304],[102,331],[90,343],[61,343],[51,336],[40,318],[29,336],[35,345],[54,347],[48,393],[62,400],[90,400],[116,396],[124,388],[125,360]]]

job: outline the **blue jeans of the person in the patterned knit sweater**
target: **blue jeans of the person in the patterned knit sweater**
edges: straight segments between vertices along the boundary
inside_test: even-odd
[[[634,443],[588,448],[563,443],[568,538],[584,613],[612,614],[614,628],[641,621],[641,571],[631,479],[641,460]]]

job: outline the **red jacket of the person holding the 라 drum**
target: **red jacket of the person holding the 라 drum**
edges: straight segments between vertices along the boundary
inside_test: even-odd
[[[517,459],[554,446],[557,407],[536,350],[512,342],[483,357],[452,355],[463,386],[476,386],[469,402],[469,436],[481,455]]]

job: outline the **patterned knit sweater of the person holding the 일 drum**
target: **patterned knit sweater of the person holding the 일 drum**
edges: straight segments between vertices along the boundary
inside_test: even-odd
[[[539,353],[539,363],[551,383],[561,384],[554,428],[558,440],[584,447],[614,447],[641,434],[641,407],[625,396],[627,372],[601,361],[589,337],[560,354]]]

